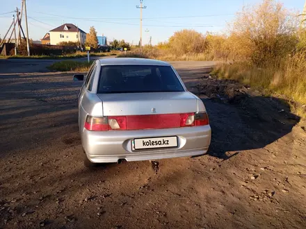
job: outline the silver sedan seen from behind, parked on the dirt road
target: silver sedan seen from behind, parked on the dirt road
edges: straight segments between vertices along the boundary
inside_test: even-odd
[[[159,60],[93,62],[79,92],[84,164],[202,155],[211,128],[202,101]]]

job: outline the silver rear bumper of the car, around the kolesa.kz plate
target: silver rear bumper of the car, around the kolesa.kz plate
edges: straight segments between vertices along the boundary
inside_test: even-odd
[[[132,141],[135,138],[168,136],[177,136],[177,147],[132,149]],[[113,130],[105,132],[83,129],[81,131],[81,141],[88,159],[95,163],[118,162],[118,160],[159,160],[206,153],[211,142],[211,128],[207,125],[162,130]]]

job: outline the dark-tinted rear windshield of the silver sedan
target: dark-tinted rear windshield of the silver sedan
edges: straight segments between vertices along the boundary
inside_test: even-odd
[[[184,92],[170,66],[102,66],[97,94],[137,92]]]

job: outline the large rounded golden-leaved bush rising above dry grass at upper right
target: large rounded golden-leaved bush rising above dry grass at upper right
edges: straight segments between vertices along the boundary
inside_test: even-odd
[[[273,0],[243,8],[230,28],[232,52],[257,66],[278,61],[296,46],[296,27],[296,16]]]

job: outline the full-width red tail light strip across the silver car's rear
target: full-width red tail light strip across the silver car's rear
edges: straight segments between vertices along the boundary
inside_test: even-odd
[[[145,130],[205,126],[209,124],[206,112],[184,114],[149,114],[111,117],[86,117],[86,130]]]

